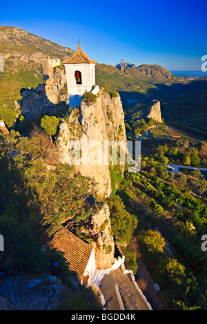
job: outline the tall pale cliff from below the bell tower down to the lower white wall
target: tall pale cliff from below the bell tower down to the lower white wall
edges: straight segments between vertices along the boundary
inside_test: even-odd
[[[77,159],[73,160],[75,168],[83,176],[89,176],[95,181],[96,196],[100,201],[105,201],[112,192],[110,167],[108,164],[104,164],[103,159],[100,160],[100,164],[96,164],[96,161],[103,153],[107,141],[119,141],[121,150],[126,150],[126,131],[119,95],[111,98],[108,92],[103,89],[96,87],[96,91],[95,103],[86,104],[82,101],[79,108],[73,109],[70,115],[61,121],[56,145],[61,152],[61,162],[71,163],[71,154],[81,151],[83,155],[84,148],[81,144],[86,143],[83,141],[87,140],[88,163],[76,163],[80,156],[77,154]],[[93,154],[94,148],[90,147],[90,143],[97,145],[95,154]],[[91,154],[95,156],[94,164],[90,163]],[[108,205],[107,203],[98,203],[97,205],[97,212],[92,214],[90,221],[81,227],[81,232],[92,239],[95,246],[97,268],[103,269],[110,267],[114,262],[115,243],[110,234]]]

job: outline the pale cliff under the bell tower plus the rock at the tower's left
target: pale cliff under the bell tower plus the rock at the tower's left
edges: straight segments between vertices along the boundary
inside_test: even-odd
[[[111,167],[104,160],[104,156],[109,141],[119,142],[118,150],[126,152],[126,130],[119,94],[117,97],[110,97],[108,91],[99,87],[95,87],[92,92],[96,96],[94,102],[88,104],[81,101],[78,108],[68,110],[66,75],[61,67],[57,67],[46,84],[39,84],[34,90],[24,90],[19,104],[21,114],[31,120],[45,114],[57,115],[61,106],[58,103],[65,105],[61,114],[66,117],[60,119],[55,141],[61,163],[71,164],[72,155],[76,153],[83,159],[86,149],[83,143],[87,140],[87,161],[84,158],[81,163],[75,163],[75,170],[94,180],[95,198],[103,203],[95,204],[95,211],[90,216],[90,221],[81,227],[81,232],[92,239],[97,268],[103,269],[112,265],[115,252],[110,229],[110,212],[107,203],[104,203],[112,193]],[[121,165],[120,170],[123,171],[123,168]]]

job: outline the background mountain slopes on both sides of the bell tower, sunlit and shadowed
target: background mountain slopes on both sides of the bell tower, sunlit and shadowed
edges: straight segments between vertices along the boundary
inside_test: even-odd
[[[25,30],[0,27],[0,55],[4,58],[4,72],[0,72],[0,117],[9,128],[18,114],[14,101],[21,99],[21,88],[35,88],[43,83],[41,59],[53,57],[63,61],[73,52]],[[187,80],[175,77],[160,65],[136,66],[122,60],[116,66],[97,64],[96,83],[119,92],[129,114],[134,115],[155,99],[160,101],[161,114],[168,123],[206,138],[205,79]]]

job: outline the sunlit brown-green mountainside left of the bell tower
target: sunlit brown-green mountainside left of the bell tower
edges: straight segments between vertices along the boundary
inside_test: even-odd
[[[21,99],[21,88],[42,83],[41,59],[66,59],[74,51],[15,27],[0,26],[0,40],[0,55],[4,59],[4,72],[0,72],[0,114],[11,127],[17,114],[14,100]]]

